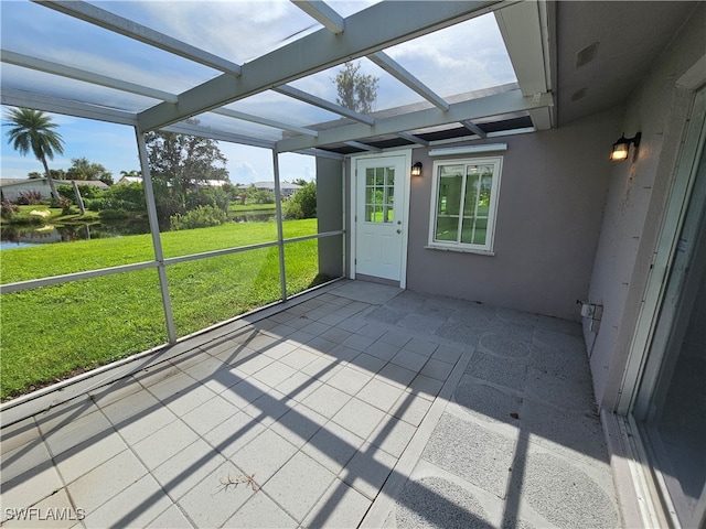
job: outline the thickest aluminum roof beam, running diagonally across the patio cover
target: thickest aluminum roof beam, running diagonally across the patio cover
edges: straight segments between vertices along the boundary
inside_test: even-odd
[[[240,76],[223,74],[138,115],[153,130],[306,77],[504,6],[502,0],[467,2],[382,2],[345,19],[339,35],[328,29],[309,34],[242,66]]]

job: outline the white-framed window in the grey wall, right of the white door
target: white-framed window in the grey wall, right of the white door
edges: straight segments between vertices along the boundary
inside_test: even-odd
[[[502,158],[434,162],[429,246],[493,251]]]

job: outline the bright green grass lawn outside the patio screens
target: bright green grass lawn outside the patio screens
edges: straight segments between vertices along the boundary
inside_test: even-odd
[[[285,223],[287,237],[315,233],[315,223]],[[174,257],[263,242],[274,226],[229,223],[165,233],[164,252]],[[317,256],[317,240],[286,246],[289,294],[322,280]],[[3,251],[0,278],[9,283],[152,259],[149,235],[43,245]],[[172,264],[167,277],[179,336],[280,299],[276,248]],[[3,400],[163,344],[168,338],[157,271],[2,294],[0,337]]]

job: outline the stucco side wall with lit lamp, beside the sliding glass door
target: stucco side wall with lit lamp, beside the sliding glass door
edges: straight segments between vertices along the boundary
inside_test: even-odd
[[[585,326],[598,403],[613,410],[645,291],[694,93],[677,85],[706,52],[698,6],[625,106],[621,131],[642,132],[635,160],[611,166],[589,300],[603,305],[598,334]],[[617,139],[617,137],[616,137]],[[614,140],[613,140],[614,141]]]

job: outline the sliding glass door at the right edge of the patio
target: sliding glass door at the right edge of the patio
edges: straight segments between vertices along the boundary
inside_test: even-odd
[[[657,490],[685,528],[706,526],[706,154],[702,127],[633,419]]]

